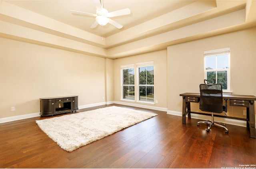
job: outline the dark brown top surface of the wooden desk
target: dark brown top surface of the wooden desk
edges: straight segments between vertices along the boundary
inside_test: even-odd
[[[200,93],[182,93],[180,96],[200,97]],[[224,99],[256,100],[256,97],[252,95],[222,94],[222,97]]]

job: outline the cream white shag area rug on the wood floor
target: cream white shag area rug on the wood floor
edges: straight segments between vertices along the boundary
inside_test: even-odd
[[[62,149],[70,152],[157,114],[111,106],[36,120],[38,126]]]

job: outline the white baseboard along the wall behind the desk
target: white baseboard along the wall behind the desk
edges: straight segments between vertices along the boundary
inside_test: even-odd
[[[175,111],[170,111],[170,110],[167,111],[167,114],[172,114],[172,115],[176,115],[176,116],[182,116],[182,112],[175,112]],[[188,115],[186,117],[188,117]],[[202,114],[194,114],[194,113],[191,113],[191,118],[201,119],[203,121],[211,120],[210,116],[202,115]],[[246,121],[244,121],[244,120],[236,120],[236,119],[231,119],[231,118],[214,117],[214,121],[225,123],[225,124],[232,124],[232,125],[236,125],[236,126],[246,127]]]

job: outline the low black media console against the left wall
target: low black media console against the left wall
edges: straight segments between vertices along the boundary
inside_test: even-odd
[[[78,110],[78,96],[40,98],[41,116],[52,116],[76,110]]]

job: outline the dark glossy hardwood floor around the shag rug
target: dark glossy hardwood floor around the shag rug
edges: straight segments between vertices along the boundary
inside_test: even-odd
[[[112,104],[116,106],[122,106]],[[112,106],[107,105],[107,106]],[[92,110],[105,106],[78,110]],[[122,106],[158,116],[72,152],[52,141],[35,120],[0,124],[0,168],[221,168],[256,164],[256,139],[245,127],[199,127],[196,119]]]

